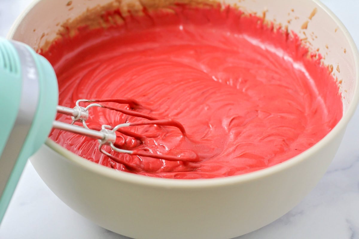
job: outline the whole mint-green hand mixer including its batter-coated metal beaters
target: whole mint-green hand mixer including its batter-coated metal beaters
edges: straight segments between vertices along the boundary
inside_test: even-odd
[[[128,104],[133,108],[140,105],[131,99],[78,100],[74,108],[58,106],[58,88],[51,64],[29,46],[0,38],[0,223],[18,183],[25,163],[45,142],[52,128],[86,135],[98,139],[99,150],[113,161],[123,163],[120,158],[104,150],[108,145],[113,151],[153,157],[169,161],[195,162],[197,156],[159,155],[141,150],[126,150],[117,147],[116,132],[130,137],[141,135],[123,132],[120,129],[132,125],[174,126],[185,135],[183,126],[175,120],[157,119],[133,110],[120,109],[103,104],[111,102]],[[80,106],[90,103],[86,107]],[[135,123],[123,123],[115,127],[102,125],[101,130],[89,129],[86,120],[91,107],[103,107],[120,113],[143,118]],[[70,115],[72,124],[54,121],[56,113]],[[74,125],[80,122],[83,127]]]

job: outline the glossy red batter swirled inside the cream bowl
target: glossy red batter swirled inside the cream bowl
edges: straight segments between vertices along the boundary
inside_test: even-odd
[[[117,170],[165,178],[239,175],[281,163],[322,139],[342,116],[337,83],[297,35],[232,9],[178,5],[174,13],[145,12],[107,29],[81,28],[44,56],[59,80],[59,104],[77,99],[133,98],[135,110],[183,124],[132,126],[143,140],[119,135],[125,149],[195,154],[171,162],[98,152],[97,140],[53,130],[66,149]],[[116,14],[109,12],[107,16]],[[308,56],[309,55],[309,56]],[[129,109],[128,105],[120,105]],[[92,111],[90,127],[138,118]],[[69,122],[66,116],[59,120]]]

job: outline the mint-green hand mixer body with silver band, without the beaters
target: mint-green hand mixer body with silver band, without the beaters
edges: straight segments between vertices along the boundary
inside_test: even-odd
[[[51,64],[25,44],[0,38],[0,223],[28,157],[52,128],[57,101]]]

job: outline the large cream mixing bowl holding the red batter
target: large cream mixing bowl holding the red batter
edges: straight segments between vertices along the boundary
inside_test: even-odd
[[[14,23],[9,38],[39,49],[57,37],[68,19],[107,2],[34,1]],[[306,33],[308,44],[319,48],[324,63],[334,68],[332,73],[341,82],[344,114],[339,123],[320,142],[288,161],[245,175],[206,180],[117,172],[48,139],[31,162],[65,204],[98,225],[132,238],[233,238],[284,215],[317,184],[334,158],[359,99],[358,52],[353,39],[340,20],[316,0],[223,2],[246,12],[265,12],[266,19],[287,24],[303,38]],[[123,8],[139,6],[131,0],[117,4]]]

